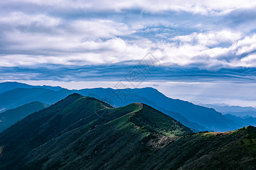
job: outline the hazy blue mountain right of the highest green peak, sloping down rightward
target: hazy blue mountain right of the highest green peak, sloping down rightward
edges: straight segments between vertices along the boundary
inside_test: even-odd
[[[94,97],[97,99],[113,103],[117,107],[134,102],[145,103],[171,117],[174,117],[184,125],[195,130],[227,131],[240,128],[239,125],[228,120],[228,118],[224,117],[220,112],[216,112],[214,109],[201,107],[199,105],[189,103],[188,101],[171,99],[151,87],[125,90],[92,88],[82,89],[76,92],[79,92],[81,95],[96,95]],[[123,93],[125,93],[125,97]],[[189,124],[186,121],[191,123]]]

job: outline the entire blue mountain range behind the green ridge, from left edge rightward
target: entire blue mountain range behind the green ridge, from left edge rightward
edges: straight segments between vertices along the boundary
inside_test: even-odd
[[[0,89],[7,83],[0,83]],[[19,83],[15,83],[15,87]],[[24,84],[21,84],[23,87]],[[20,105],[32,101],[40,101],[46,104],[53,104],[67,97],[74,92],[84,96],[91,96],[113,107],[122,107],[130,103],[144,103],[158,109],[180,121],[183,125],[188,126],[193,131],[228,131],[241,128],[240,124],[224,117],[220,112],[214,109],[201,107],[179,99],[171,99],[164,96],[154,88],[135,88],[114,90],[112,88],[88,88],[82,90],[67,90],[61,88],[59,91],[42,88],[43,86],[30,88],[15,88],[14,90],[5,91],[0,94],[0,109],[13,109]]]

